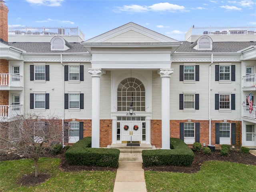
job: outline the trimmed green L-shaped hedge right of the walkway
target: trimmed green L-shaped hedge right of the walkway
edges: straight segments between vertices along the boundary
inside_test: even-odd
[[[143,165],[147,166],[191,166],[194,161],[194,153],[179,138],[170,138],[170,146],[174,149],[143,150]]]

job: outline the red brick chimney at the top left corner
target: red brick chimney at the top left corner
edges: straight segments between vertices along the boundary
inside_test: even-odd
[[[0,41],[8,42],[8,7],[0,0]]]

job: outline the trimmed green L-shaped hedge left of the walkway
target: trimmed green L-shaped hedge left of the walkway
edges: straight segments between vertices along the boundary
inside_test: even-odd
[[[90,148],[92,138],[79,140],[66,153],[69,165],[118,167],[120,150],[107,148]]]

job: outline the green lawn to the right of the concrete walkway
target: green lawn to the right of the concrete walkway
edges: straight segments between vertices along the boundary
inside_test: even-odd
[[[256,166],[204,162],[194,174],[145,171],[148,192],[256,192]]]

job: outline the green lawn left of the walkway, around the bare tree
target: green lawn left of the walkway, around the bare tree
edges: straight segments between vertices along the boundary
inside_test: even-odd
[[[116,172],[80,171],[62,172],[58,158],[40,158],[40,173],[50,173],[52,177],[36,186],[19,186],[17,181],[24,174],[34,174],[33,161],[29,159],[3,161],[0,163],[0,191],[4,192],[112,192]]]

